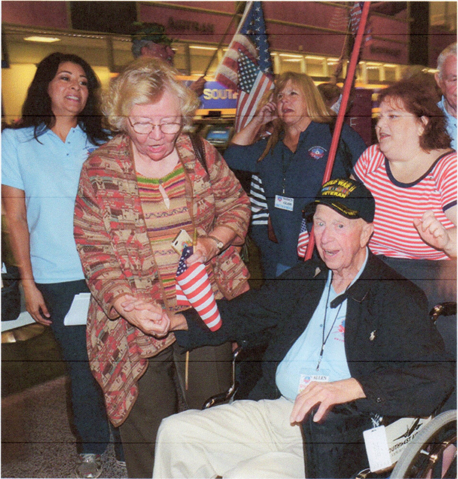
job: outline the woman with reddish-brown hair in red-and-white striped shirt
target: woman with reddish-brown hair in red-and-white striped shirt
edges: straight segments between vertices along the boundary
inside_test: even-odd
[[[378,144],[364,151],[354,174],[376,200],[370,249],[434,306],[456,298],[457,154],[423,85],[411,78],[380,94]]]

